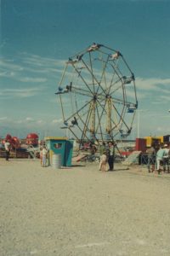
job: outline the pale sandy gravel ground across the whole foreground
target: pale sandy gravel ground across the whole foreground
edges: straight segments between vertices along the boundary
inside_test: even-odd
[[[170,174],[125,169],[0,160],[0,255],[170,255]]]

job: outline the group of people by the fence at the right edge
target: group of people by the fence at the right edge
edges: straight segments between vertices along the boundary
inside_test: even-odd
[[[151,145],[146,150],[146,153],[148,154],[148,172],[154,172],[155,170],[159,174],[161,172],[170,172],[170,146],[167,143],[161,144],[157,150],[154,145]]]

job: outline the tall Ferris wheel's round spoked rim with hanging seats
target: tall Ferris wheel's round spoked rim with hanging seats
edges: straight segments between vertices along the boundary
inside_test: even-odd
[[[92,44],[72,55],[56,94],[64,126],[79,141],[127,137],[138,101],[135,78],[120,51]]]

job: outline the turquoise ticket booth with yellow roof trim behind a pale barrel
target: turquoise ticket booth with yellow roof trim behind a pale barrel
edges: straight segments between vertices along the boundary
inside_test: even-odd
[[[73,142],[67,137],[45,137],[49,151],[49,162],[52,164],[53,154],[61,157],[61,166],[71,166]]]

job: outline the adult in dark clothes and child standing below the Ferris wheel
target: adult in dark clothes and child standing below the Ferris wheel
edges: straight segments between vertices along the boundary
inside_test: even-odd
[[[102,145],[99,147],[99,171],[114,171],[114,162],[115,162],[115,147],[116,144],[113,142],[105,143],[103,142]],[[106,165],[109,165],[109,170],[106,170]]]

